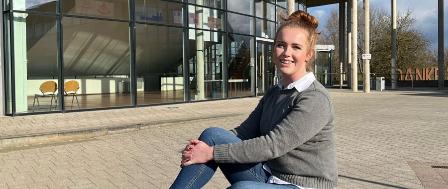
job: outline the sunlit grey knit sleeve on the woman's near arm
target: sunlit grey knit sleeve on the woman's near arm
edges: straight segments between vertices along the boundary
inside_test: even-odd
[[[268,134],[239,143],[216,145],[218,163],[255,163],[272,160],[297,148],[332,122],[329,96],[312,91],[298,97],[292,111]]]

